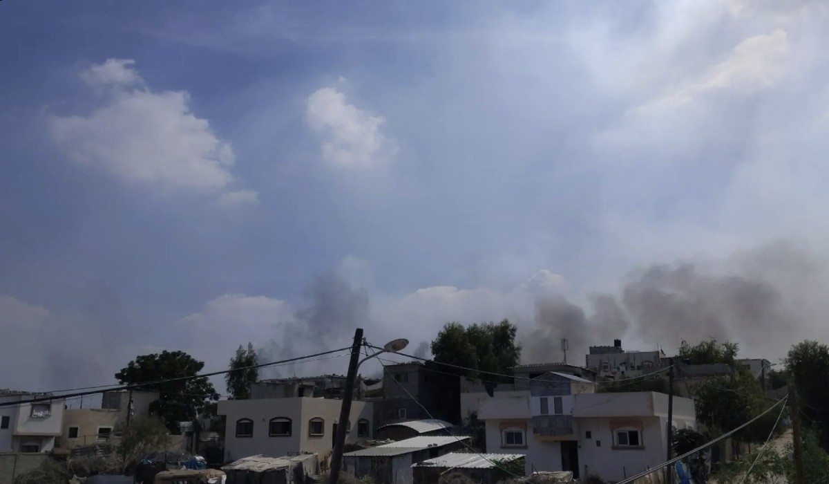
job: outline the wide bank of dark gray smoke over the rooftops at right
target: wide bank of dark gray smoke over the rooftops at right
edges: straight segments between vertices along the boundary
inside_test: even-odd
[[[782,355],[788,345],[816,337],[825,314],[819,288],[825,266],[792,243],[777,242],[724,261],[676,262],[633,271],[619,296],[594,295],[589,310],[563,298],[536,301],[526,361],[560,360],[560,340],[580,360],[590,345],[609,345],[628,330],[673,351],[681,340],[739,343],[742,354]],[[589,314],[589,315],[588,315]],[[819,323],[819,320],[817,320]],[[767,356],[768,355],[768,356]]]

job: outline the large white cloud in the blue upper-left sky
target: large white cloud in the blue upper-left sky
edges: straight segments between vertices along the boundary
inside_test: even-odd
[[[51,136],[80,164],[105,169],[128,183],[217,192],[234,182],[230,144],[193,115],[187,91],[154,92],[134,61],[109,59],[81,72],[90,86],[109,87],[90,115],[51,116]],[[229,195],[231,200],[252,193]]]

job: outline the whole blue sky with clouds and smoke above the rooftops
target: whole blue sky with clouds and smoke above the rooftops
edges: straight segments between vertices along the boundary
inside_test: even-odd
[[[827,334],[827,9],[2,2],[0,388],[504,318],[778,361]]]

